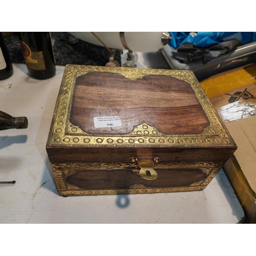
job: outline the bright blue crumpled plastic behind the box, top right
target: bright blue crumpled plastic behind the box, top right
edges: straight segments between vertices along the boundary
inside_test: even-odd
[[[220,42],[230,39],[238,39],[241,45],[256,41],[256,32],[197,32],[193,37],[189,32],[169,32],[172,36],[169,45],[175,49],[184,44],[191,42],[196,47],[210,47]]]

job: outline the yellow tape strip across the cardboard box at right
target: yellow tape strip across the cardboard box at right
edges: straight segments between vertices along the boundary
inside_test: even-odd
[[[256,82],[256,65],[250,64],[241,68],[211,76],[200,82],[206,95],[211,98],[231,90]]]

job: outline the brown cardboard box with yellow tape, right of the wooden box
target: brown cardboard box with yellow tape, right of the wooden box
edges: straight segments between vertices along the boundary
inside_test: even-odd
[[[201,82],[238,150],[224,165],[250,223],[256,223],[256,65],[234,69]],[[214,84],[217,84],[214,90]],[[239,84],[242,87],[238,87]],[[230,90],[232,89],[232,90]]]

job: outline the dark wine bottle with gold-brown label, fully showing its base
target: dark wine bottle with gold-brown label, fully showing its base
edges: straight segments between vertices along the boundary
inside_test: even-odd
[[[55,76],[51,33],[19,32],[19,39],[29,76],[40,80]]]

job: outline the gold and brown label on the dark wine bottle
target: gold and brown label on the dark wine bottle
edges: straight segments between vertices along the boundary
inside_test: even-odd
[[[31,52],[29,46],[24,41],[20,41],[20,45],[22,46],[23,56],[29,69],[46,70],[45,58],[42,52]]]

